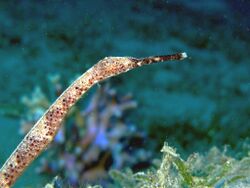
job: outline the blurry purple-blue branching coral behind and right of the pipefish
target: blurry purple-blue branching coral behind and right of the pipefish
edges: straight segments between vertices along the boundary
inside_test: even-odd
[[[137,106],[131,97],[118,95],[108,84],[98,87],[85,110],[74,108],[38,171],[61,175],[76,186],[104,180],[110,167],[122,169],[148,161],[150,152],[139,144],[143,134],[126,120],[128,111]]]

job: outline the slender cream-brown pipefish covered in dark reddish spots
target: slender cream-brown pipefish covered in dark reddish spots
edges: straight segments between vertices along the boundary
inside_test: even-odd
[[[167,60],[182,60],[185,53],[154,56],[143,59],[131,57],[106,57],[75,80],[50,106],[24,137],[0,169],[0,187],[14,184],[27,166],[49,145],[60,128],[69,109],[94,84],[133,68]]]

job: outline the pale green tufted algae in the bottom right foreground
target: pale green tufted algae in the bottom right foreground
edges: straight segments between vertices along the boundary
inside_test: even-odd
[[[167,143],[161,162],[154,162],[144,172],[110,170],[113,182],[107,187],[118,188],[233,188],[250,187],[250,156],[235,159],[216,147],[206,154],[191,154],[182,159]],[[53,187],[53,186],[52,186]],[[83,186],[84,187],[84,186]],[[88,188],[96,188],[87,185]],[[100,186],[98,186],[100,188]]]

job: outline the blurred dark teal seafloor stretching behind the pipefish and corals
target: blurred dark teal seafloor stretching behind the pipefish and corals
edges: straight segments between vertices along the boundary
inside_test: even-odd
[[[137,101],[126,118],[146,135],[152,155],[166,140],[184,158],[212,146],[227,147],[236,158],[247,155],[249,8],[244,0],[0,1],[0,164],[22,138],[21,119],[28,109],[21,98],[40,87],[50,102],[55,100],[51,75],[60,76],[66,88],[105,56],[183,51],[189,58],[182,62],[108,80]],[[39,160],[16,187],[45,185],[47,176],[34,173],[37,166]]]

